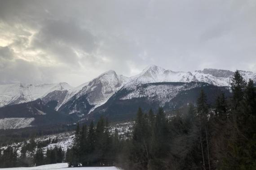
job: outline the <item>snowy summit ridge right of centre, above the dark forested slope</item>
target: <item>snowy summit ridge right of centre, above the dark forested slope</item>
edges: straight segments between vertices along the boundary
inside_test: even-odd
[[[239,71],[245,80],[250,78],[256,81],[256,73]],[[150,65],[145,68],[139,75],[131,78],[131,81],[126,86],[155,83],[155,82],[191,82],[199,81],[205,82],[216,86],[230,86],[230,77],[234,72],[229,70],[219,70],[206,68],[203,71],[194,72],[173,72],[164,68]]]

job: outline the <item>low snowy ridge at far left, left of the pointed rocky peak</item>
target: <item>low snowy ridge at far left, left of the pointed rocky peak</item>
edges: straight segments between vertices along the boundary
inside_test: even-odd
[[[0,107],[10,104],[30,102],[38,98],[43,98],[54,91],[71,90],[67,83],[25,85],[12,84],[0,85]]]

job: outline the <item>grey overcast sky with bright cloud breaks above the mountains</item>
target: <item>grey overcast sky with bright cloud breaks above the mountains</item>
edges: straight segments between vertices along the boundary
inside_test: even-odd
[[[0,0],[0,84],[150,64],[256,72],[256,0]]]

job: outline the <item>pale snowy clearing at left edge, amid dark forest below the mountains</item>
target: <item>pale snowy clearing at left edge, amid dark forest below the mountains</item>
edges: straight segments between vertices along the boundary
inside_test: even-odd
[[[20,129],[31,126],[35,118],[4,118],[0,119],[0,129]]]

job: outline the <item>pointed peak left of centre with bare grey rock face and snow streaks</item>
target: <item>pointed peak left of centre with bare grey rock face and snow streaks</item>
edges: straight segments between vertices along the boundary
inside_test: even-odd
[[[128,79],[128,77],[117,75],[113,70],[104,72],[92,81],[71,90],[58,110],[78,115],[90,113],[104,104]]]

